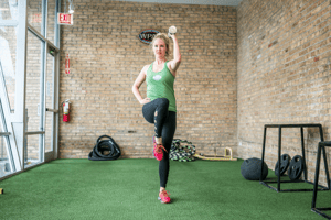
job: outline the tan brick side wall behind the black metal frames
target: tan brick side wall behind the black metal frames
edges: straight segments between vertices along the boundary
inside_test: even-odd
[[[237,7],[239,157],[261,156],[268,123],[321,123],[331,140],[330,11],[330,0],[244,0]],[[305,129],[310,180],[319,140],[318,129]],[[281,143],[281,153],[301,154],[300,130],[282,129]],[[268,130],[273,169],[277,147],[278,130]]]

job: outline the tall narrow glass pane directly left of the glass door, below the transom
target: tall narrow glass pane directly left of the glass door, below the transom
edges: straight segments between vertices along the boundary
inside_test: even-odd
[[[44,160],[44,54],[45,42],[28,31],[24,165]]]

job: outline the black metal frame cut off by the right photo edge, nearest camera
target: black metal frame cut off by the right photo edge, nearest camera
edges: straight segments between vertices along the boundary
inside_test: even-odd
[[[314,184],[313,184],[313,195],[312,195],[312,202],[311,202],[311,211],[327,218],[331,219],[330,216],[323,213],[322,211],[331,210],[331,208],[316,208],[316,200],[317,200],[317,193],[319,187],[319,175],[320,175],[320,162],[321,162],[321,151],[323,151],[323,160],[324,163],[327,162],[327,153],[325,153],[325,146],[331,146],[331,141],[320,142],[318,146],[318,155],[316,161],[316,173],[314,173]],[[329,180],[329,170],[328,166],[325,167],[327,173],[327,182],[328,182],[328,188],[330,190],[330,180]]]

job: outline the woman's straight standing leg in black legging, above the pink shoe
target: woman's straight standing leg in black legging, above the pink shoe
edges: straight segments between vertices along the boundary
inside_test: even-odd
[[[163,151],[163,158],[159,162],[160,187],[166,189],[169,175],[169,153],[173,140],[177,125],[177,114],[174,111],[169,111],[168,118],[162,128],[162,142],[167,152]]]

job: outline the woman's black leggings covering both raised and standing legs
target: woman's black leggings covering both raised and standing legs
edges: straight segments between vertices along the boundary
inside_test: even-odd
[[[175,131],[175,112],[168,111],[169,101],[166,98],[158,98],[143,105],[142,114],[146,121],[154,124],[154,136],[162,136],[163,158],[159,163],[160,187],[164,187],[169,175],[169,153]]]

